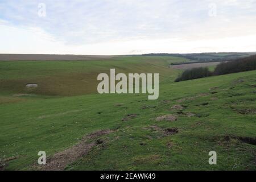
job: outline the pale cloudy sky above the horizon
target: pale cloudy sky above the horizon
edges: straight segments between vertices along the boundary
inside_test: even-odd
[[[254,52],[256,0],[0,0],[0,53]]]

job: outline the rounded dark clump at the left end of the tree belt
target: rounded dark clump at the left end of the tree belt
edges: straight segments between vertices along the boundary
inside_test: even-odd
[[[193,80],[197,78],[203,78],[211,76],[212,73],[208,68],[192,68],[184,71],[181,76],[177,77],[175,82],[185,81],[185,80]]]

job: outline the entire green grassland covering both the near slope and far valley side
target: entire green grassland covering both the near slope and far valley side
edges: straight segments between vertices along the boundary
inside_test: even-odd
[[[0,61],[0,169],[44,169],[39,151],[72,155],[82,141],[89,149],[64,169],[255,170],[256,71],[173,82],[180,71],[168,65],[177,61],[184,59]],[[110,68],[159,73],[159,99],[97,94],[97,75]],[[155,119],[168,114],[177,120]],[[102,130],[110,132],[96,135]]]

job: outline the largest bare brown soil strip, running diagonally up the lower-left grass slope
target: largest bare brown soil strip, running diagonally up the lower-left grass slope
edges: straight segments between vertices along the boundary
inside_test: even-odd
[[[88,154],[92,147],[102,143],[99,142],[100,140],[88,143],[89,139],[94,139],[101,135],[109,134],[111,132],[112,130],[107,129],[96,131],[87,135],[76,146],[73,146],[71,148],[68,148],[67,150],[61,151],[53,155],[49,160],[47,160],[47,164],[45,166],[42,166],[42,169],[46,171],[59,171],[65,169],[68,164],[71,164],[77,159],[81,158],[83,155]]]

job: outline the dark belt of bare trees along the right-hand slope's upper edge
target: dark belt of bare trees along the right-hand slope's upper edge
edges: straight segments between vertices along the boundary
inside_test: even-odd
[[[256,55],[245,57],[243,59],[237,59],[220,63],[210,72],[208,68],[192,68],[184,71],[179,77],[176,78],[175,82],[193,80],[197,78],[203,78],[208,76],[226,75],[229,73],[238,73],[251,71],[256,69]]]

